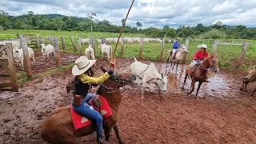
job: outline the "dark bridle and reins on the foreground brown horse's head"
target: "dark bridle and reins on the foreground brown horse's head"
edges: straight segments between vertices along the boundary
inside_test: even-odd
[[[127,84],[129,84],[131,82],[134,82],[136,80],[136,78],[135,78],[135,76],[133,74],[130,74],[130,78],[110,77],[110,80],[116,82],[118,84],[118,86],[123,87],[123,86],[125,86],[125,85],[127,85]],[[104,86],[103,84],[100,84],[100,86],[105,88],[106,89],[106,93],[109,93],[109,94],[110,93],[116,93],[118,91],[120,91],[122,93],[123,91],[125,91],[125,90],[121,91],[120,89],[113,90],[113,88]]]

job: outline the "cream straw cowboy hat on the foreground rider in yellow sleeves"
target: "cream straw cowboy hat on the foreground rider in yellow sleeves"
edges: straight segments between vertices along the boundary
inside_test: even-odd
[[[96,60],[89,60],[85,55],[82,55],[74,62],[74,66],[72,68],[72,74],[80,75],[86,72],[86,70],[88,70],[91,66],[93,66],[95,62]]]

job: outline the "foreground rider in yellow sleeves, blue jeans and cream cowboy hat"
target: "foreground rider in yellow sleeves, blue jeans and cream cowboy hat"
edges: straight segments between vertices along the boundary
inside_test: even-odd
[[[98,143],[107,143],[102,140],[102,115],[90,106],[90,99],[94,98],[96,94],[88,93],[90,84],[101,84],[113,74],[112,70],[107,71],[102,76],[95,78],[91,77],[92,70],[90,67],[94,65],[96,60],[88,60],[86,56],[81,56],[75,61],[72,69],[74,79],[74,97],[72,98],[72,107],[74,111],[83,117],[93,119],[95,121],[97,130]],[[83,99],[83,100],[82,100]]]

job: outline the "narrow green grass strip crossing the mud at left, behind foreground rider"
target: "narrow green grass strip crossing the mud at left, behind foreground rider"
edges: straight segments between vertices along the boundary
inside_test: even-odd
[[[46,71],[45,73],[42,73],[42,74],[34,74],[32,75],[32,78],[30,79],[34,79],[34,78],[42,78],[42,77],[45,77],[46,75],[49,75],[49,74],[54,74],[58,71],[61,71],[61,70],[66,70],[70,67],[74,66],[74,63],[70,64],[70,65],[67,65],[67,66],[61,66],[59,68],[56,68],[56,69],[53,69],[53,70],[48,70]],[[18,83],[22,83],[22,82],[26,82],[26,81],[29,81],[30,79],[26,77],[26,72],[22,71],[22,72],[19,72],[18,73]]]

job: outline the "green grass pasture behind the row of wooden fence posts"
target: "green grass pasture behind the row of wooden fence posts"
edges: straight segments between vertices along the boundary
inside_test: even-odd
[[[8,39],[8,38],[16,38],[15,34],[41,34],[42,38],[47,38],[49,35],[52,36],[58,36],[58,44],[60,46],[60,50],[62,53],[73,53],[78,54],[78,51],[74,50],[74,47],[72,46],[72,43],[70,41],[69,36],[74,37],[74,43],[78,48],[78,39],[77,37],[81,36],[82,38],[87,38],[89,35],[93,36],[94,38],[117,38],[118,33],[102,33],[102,32],[79,32],[79,31],[54,31],[54,30],[4,30],[0,32],[0,39]],[[14,34],[14,35],[1,35],[1,34]],[[65,42],[66,42],[66,49],[62,50],[62,44],[61,44],[61,36],[65,36]],[[144,34],[122,34],[123,37],[143,37],[146,36]],[[242,70],[246,70],[248,67],[253,66],[256,64],[256,42],[253,40],[246,40],[246,39],[218,39],[220,42],[250,42],[250,47],[247,50],[246,53],[246,59],[244,61],[244,64],[242,65]],[[42,41],[43,43],[45,41]],[[181,44],[185,43],[185,40],[179,41]],[[46,44],[49,42],[46,42]],[[208,52],[211,51],[211,47],[213,45],[212,42],[199,42],[199,41],[193,41],[190,40],[189,44],[189,54],[186,56],[186,63],[190,63],[192,56],[194,53],[198,50],[198,45],[200,44],[206,44],[210,49]],[[115,47],[115,43],[109,44],[113,47]],[[82,54],[84,54],[86,46],[82,46]],[[218,54],[218,62],[220,67],[224,67],[226,69],[235,70],[236,64],[238,62],[238,59],[240,58],[241,54],[241,48],[242,46],[221,46],[218,45],[217,47],[217,54]],[[95,49],[96,49],[96,57],[101,57],[101,50],[98,49],[98,42],[95,40]],[[164,48],[164,54],[163,58],[164,61],[166,61],[167,57],[167,51],[172,49],[172,43],[165,43]],[[160,59],[160,51],[161,51],[161,43],[143,43],[143,50],[142,50],[142,58],[158,61]],[[124,58],[131,58],[135,57],[138,58],[139,53],[139,43],[133,43],[133,44],[124,44]],[[115,53],[115,56],[120,57],[121,56],[121,45],[118,43],[118,47]]]

